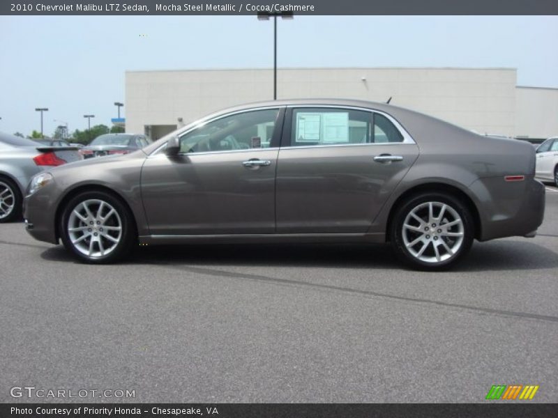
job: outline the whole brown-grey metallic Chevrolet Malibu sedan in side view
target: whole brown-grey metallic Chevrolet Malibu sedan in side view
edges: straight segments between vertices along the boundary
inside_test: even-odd
[[[88,263],[140,244],[391,242],[424,270],[476,238],[532,237],[535,150],[389,104],[234,107],[128,155],[56,167],[24,199],[27,231]]]

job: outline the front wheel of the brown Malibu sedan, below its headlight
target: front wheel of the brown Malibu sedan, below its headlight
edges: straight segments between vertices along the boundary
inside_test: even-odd
[[[101,191],[82,192],[70,199],[63,208],[59,231],[64,247],[80,261],[91,264],[119,261],[137,242],[128,207],[118,197]]]

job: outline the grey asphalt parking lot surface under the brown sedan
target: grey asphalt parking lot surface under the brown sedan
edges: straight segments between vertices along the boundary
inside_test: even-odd
[[[558,189],[452,272],[382,245],[147,247],[91,266],[0,225],[0,402],[558,401]],[[10,396],[12,387],[135,398]],[[88,395],[89,396],[89,395]]]

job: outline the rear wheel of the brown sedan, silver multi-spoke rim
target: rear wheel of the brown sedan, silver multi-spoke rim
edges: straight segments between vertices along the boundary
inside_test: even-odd
[[[416,270],[438,271],[453,267],[467,254],[474,230],[472,215],[460,199],[425,192],[410,196],[395,210],[389,233],[393,249],[404,263]]]

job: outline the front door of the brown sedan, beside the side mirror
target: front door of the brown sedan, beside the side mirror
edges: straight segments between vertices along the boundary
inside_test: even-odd
[[[149,156],[142,199],[151,234],[273,233],[283,112],[220,116],[179,134],[179,155]]]

